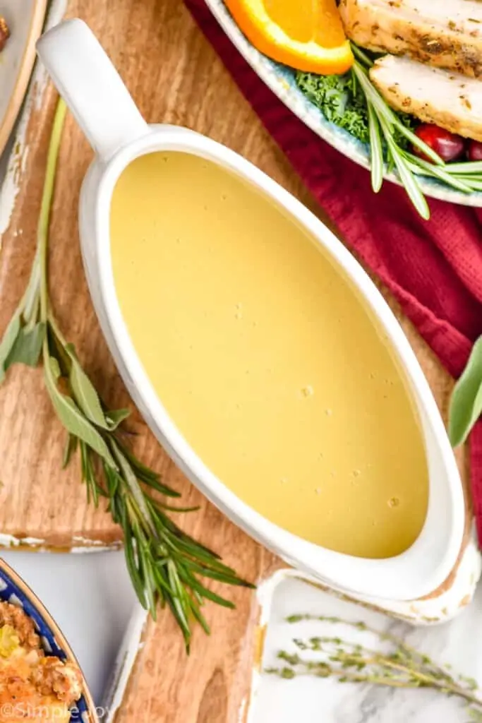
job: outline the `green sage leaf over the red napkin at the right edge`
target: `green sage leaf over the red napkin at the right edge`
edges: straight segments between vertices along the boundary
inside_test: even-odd
[[[458,447],[482,414],[482,336],[473,345],[467,366],[450,398],[449,440]]]

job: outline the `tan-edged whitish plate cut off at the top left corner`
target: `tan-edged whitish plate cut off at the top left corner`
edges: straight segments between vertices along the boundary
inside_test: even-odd
[[[10,37],[0,53],[0,153],[22,106],[35,62],[35,40],[42,32],[47,0],[0,0]]]

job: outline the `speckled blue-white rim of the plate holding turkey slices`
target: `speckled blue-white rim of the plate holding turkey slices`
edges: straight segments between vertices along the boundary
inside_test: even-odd
[[[233,45],[238,48],[238,51],[244,56],[244,59],[249,63],[254,72],[266,83],[270,90],[272,90],[280,100],[283,100],[285,106],[288,106],[304,124],[317,133],[320,138],[339,150],[340,153],[343,153],[347,158],[363,166],[363,168],[369,168],[369,147],[366,143],[362,143],[350,135],[348,131],[345,131],[345,129],[327,121],[319,108],[314,106],[314,104],[306,98],[306,95],[299,90],[296,85],[295,72],[291,68],[270,60],[252,46],[249,40],[241,33],[241,30],[239,30],[231,14],[229,14],[228,9],[226,9],[223,0],[206,0],[206,4]],[[398,177],[391,172],[385,171],[384,178],[400,185]],[[452,189],[441,181],[423,178],[421,176],[419,176],[419,181],[421,189],[426,196],[467,206],[482,206],[482,192],[462,193]]]

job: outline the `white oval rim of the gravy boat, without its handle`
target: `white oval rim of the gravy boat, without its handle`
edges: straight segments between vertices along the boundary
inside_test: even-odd
[[[403,552],[402,555],[386,560],[366,560],[366,558],[350,557],[306,542],[284,529],[280,529],[252,510],[249,505],[239,500],[218,477],[212,474],[202,459],[194,453],[194,450],[192,450],[168,415],[137,356],[121,314],[111,264],[108,213],[113,188],[121,171],[139,155],[158,150],[200,155],[209,161],[228,168],[234,174],[241,174],[245,179],[262,189],[277,205],[280,205],[293,218],[296,218],[298,223],[301,223],[311,236],[314,236],[314,239],[317,239],[322,244],[327,254],[330,254],[330,257],[340,267],[341,273],[348,275],[350,281],[358,288],[358,291],[361,292],[363,298],[366,299],[366,303],[369,304],[372,312],[378,318],[406,371],[415,396],[418,396],[418,403],[421,403],[426,412],[429,425],[436,438],[436,446],[442,457],[444,467],[447,469],[447,480],[452,498],[455,523],[450,531],[449,539],[447,539],[444,562],[440,563],[434,570],[425,569],[423,580],[418,579],[416,583],[412,580],[410,585],[408,570],[416,570],[420,566],[420,553],[424,546],[423,535],[426,531],[425,525],[416,542],[408,550]],[[444,425],[431,395],[429,385],[403,330],[369,276],[332,232],[301,202],[298,202],[275,181],[262,171],[259,171],[258,168],[252,166],[249,161],[199,134],[180,132],[180,129],[165,129],[165,127],[150,127],[150,132],[145,137],[135,140],[113,155],[111,161],[103,169],[93,212],[95,214],[99,291],[111,323],[114,341],[122,359],[124,359],[129,375],[135,380],[139,398],[152,414],[158,436],[162,437],[163,445],[168,448],[168,451],[191,481],[202,489],[202,492],[215,505],[233,518],[248,534],[258,539],[259,542],[271,549],[274,547],[276,552],[290,564],[301,567],[314,576],[319,577],[320,568],[322,568],[322,578],[339,588],[342,587],[343,589],[381,598],[390,597],[400,600],[423,596],[438,588],[449,576],[455,565],[457,555],[460,552],[465,525],[464,497],[455,458],[449,447]],[[434,494],[432,485],[431,482],[429,508]],[[418,578],[420,577],[419,574]],[[340,581],[346,581],[347,579],[350,579],[350,585],[345,587]]]

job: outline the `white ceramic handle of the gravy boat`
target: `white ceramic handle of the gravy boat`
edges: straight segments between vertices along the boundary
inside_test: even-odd
[[[85,22],[64,20],[37,53],[101,161],[149,132],[106,51]]]

